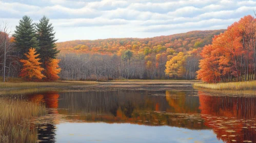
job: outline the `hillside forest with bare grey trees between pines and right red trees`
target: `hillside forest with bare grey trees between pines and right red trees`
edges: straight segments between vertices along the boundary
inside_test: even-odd
[[[58,42],[56,45],[61,51],[58,58],[61,59],[62,68],[60,77],[65,80],[97,81],[195,79],[203,46],[210,44],[214,35],[224,31],[191,31],[142,39]],[[173,68],[173,64],[177,65]]]

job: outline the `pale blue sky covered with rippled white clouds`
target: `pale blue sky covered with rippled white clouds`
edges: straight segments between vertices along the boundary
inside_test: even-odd
[[[0,20],[12,31],[24,15],[45,15],[58,42],[226,29],[254,10],[256,0],[0,0]]]

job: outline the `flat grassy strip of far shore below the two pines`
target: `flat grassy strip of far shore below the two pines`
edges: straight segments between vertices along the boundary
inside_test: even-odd
[[[1,82],[0,88],[27,88],[27,87],[66,87],[77,85],[93,85],[97,82],[60,81],[60,82]]]

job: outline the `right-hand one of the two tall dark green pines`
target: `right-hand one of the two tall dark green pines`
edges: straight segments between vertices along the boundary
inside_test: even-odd
[[[50,59],[55,59],[56,55],[60,52],[56,49],[57,40],[54,39],[55,32],[53,32],[52,23],[49,23],[49,18],[43,16],[40,19],[40,23],[36,23],[37,38],[39,40],[41,62],[43,67],[46,66],[46,62]]]

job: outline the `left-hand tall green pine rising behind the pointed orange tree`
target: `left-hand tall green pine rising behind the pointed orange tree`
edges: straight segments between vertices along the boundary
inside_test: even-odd
[[[32,19],[25,15],[19,20],[19,25],[16,26],[13,37],[15,38],[15,45],[19,54],[22,55],[22,58],[25,58],[26,53],[28,53],[31,47],[38,50],[38,41],[35,35],[34,23]]]

